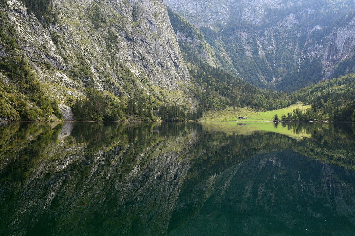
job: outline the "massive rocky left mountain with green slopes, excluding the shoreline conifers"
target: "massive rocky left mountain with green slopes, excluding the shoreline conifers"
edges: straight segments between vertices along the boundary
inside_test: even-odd
[[[196,105],[181,92],[190,76],[162,1],[4,0],[0,24],[0,117],[58,119],[42,104],[54,98],[72,120],[68,105],[86,88],[122,106],[135,93],[152,109]]]

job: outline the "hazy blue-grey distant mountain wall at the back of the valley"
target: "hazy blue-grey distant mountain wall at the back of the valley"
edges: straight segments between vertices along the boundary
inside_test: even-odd
[[[294,91],[354,72],[353,1],[166,0],[201,30],[227,71]]]

